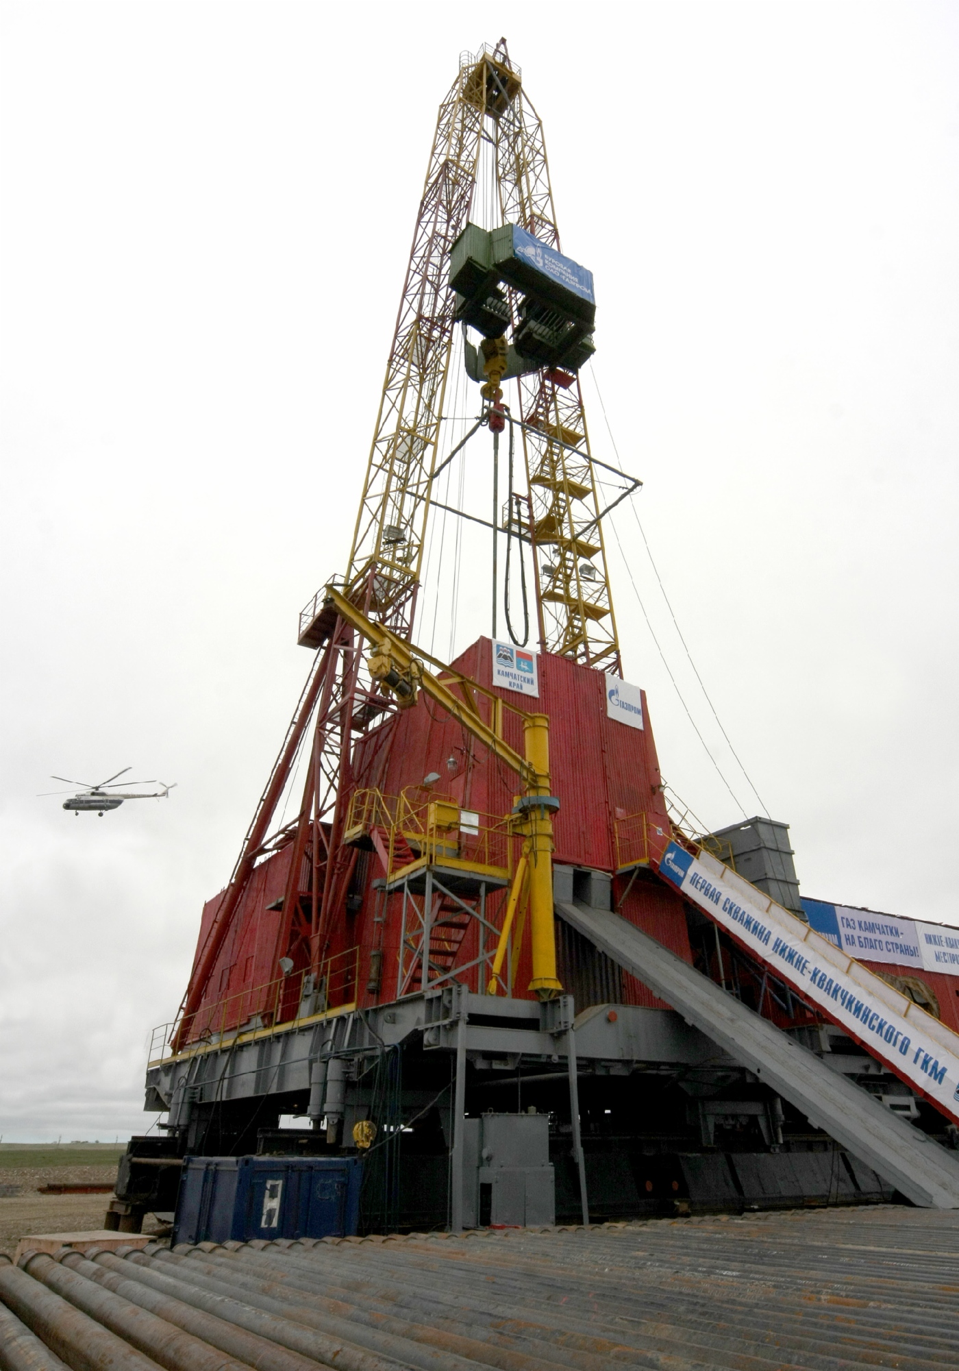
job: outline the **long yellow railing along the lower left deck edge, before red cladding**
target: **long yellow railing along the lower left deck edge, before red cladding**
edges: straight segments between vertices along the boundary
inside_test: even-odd
[[[306,967],[260,986],[245,986],[215,1004],[200,1005],[188,1020],[175,1019],[153,1028],[148,1060],[152,1064],[171,1057],[177,1039],[184,1045],[181,1052],[189,1053],[245,1032],[277,1031],[299,1017],[341,1009],[356,999],[359,958],[360,949],[349,947],[327,957],[316,973]],[[308,976],[312,976],[312,988]]]

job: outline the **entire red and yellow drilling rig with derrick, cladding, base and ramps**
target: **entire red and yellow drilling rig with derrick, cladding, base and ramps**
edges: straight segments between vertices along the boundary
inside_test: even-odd
[[[466,53],[349,558],[300,614],[307,681],[110,1224],[171,1211],[188,1154],[363,1157],[381,1233],[959,1205],[948,986],[940,1012],[822,932],[785,824],[701,834],[667,805],[616,635],[604,520],[640,481],[590,450],[595,324],[521,69],[506,40]],[[448,503],[467,468],[492,509]],[[418,614],[432,594],[436,629],[445,521],[492,550],[490,633],[449,662]]]

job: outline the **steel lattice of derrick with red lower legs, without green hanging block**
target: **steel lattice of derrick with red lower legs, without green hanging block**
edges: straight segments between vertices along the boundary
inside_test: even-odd
[[[412,635],[416,592],[437,468],[444,398],[455,340],[449,250],[475,213],[484,143],[492,147],[499,213],[559,248],[543,123],[522,89],[506,41],[464,53],[440,106],[410,265],[400,299],[382,398],[356,518],[347,598],[399,638]],[[515,318],[515,292],[510,291]],[[552,570],[536,568],[543,651],[621,672],[599,500],[578,380],[543,369],[519,383],[519,418],[532,535]],[[541,580],[543,574],[543,580]],[[356,861],[341,846],[352,786],[351,743],[395,709],[363,669],[359,644],[329,621],[323,592],[300,616],[300,643],[318,650],[284,747],[258,805],[230,883],[200,953],[182,1010],[196,1010],[253,866],[293,845],[277,957],[316,967],[332,920],[347,898]],[[314,721],[315,720],[315,721]],[[267,831],[312,724],[297,818]]]

